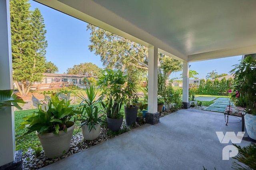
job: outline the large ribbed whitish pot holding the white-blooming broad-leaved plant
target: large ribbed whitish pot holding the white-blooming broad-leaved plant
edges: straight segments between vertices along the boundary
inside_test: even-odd
[[[56,158],[68,152],[75,127],[74,122],[70,123],[72,126],[67,129],[67,133],[64,131],[60,131],[59,135],[53,133],[38,135],[36,133],[48,158]]]

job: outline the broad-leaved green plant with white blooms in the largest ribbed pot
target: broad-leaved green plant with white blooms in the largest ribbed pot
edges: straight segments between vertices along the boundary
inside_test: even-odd
[[[54,133],[59,134],[59,131],[67,131],[70,124],[70,119],[75,115],[73,106],[70,106],[70,95],[65,94],[52,94],[46,96],[45,100],[40,101],[32,97],[33,105],[38,107],[38,111],[35,111],[32,115],[24,117],[24,122],[18,129],[28,129],[24,134],[27,135],[33,131],[37,131],[38,134]]]

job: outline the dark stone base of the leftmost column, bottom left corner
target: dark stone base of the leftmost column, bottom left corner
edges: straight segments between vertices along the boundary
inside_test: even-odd
[[[17,150],[14,161],[0,166],[0,170],[22,170],[22,150]]]

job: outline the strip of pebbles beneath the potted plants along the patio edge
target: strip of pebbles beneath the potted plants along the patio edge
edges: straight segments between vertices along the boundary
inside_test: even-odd
[[[176,110],[163,111],[161,113],[160,117],[163,117],[164,115],[168,115],[174,111],[176,111]],[[58,161],[58,160],[66,158],[74,153],[77,153],[84,149],[90,148],[94,145],[97,145],[98,143],[102,143],[108,139],[116,137],[117,135],[120,135],[122,133],[130,131],[136,127],[140,127],[143,124],[136,123],[136,125],[128,127],[126,125],[126,122],[124,119],[122,126],[121,126],[121,130],[119,131],[118,134],[111,133],[106,126],[102,125],[101,131],[100,131],[100,136],[97,139],[94,139],[93,141],[86,141],[86,140],[84,140],[82,133],[77,133],[76,135],[73,135],[73,137],[72,137],[70,149],[68,150],[68,152],[58,158],[47,158],[44,154],[44,150],[42,150],[40,152],[40,156],[36,157],[36,155],[34,154],[34,150],[29,148],[26,152],[23,152],[23,170],[40,169],[44,166],[47,166],[49,164],[52,164],[52,163]]]

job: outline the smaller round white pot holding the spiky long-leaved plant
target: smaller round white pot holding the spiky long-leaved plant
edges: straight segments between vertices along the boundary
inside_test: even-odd
[[[95,129],[92,128],[91,131],[89,131],[88,125],[83,125],[82,128],[82,134],[84,136],[85,140],[92,141],[94,139],[97,139],[100,135],[100,124],[94,125]]]

